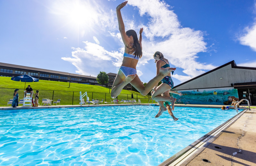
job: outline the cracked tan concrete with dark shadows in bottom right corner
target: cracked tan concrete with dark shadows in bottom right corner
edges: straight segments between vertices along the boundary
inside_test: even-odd
[[[200,151],[200,154],[192,155],[180,165],[256,166],[256,109],[244,112],[218,138]],[[203,159],[209,162],[204,162]]]

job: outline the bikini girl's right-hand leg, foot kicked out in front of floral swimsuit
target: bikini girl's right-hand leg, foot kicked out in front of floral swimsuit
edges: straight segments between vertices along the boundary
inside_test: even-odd
[[[164,76],[168,75],[170,72],[172,72],[173,68],[165,69],[165,68],[160,68],[159,74],[156,75],[153,79],[151,79],[146,86],[144,86],[136,74],[136,77],[130,82],[135,89],[137,89],[140,94],[143,96],[147,95],[153,87],[155,87],[161,79],[164,78]],[[169,88],[171,89],[171,88]],[[168,90],[169,90],[168,89]]]

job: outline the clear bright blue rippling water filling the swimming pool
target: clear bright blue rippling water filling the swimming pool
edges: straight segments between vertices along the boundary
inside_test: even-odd
[[[0,165],[156,166],[236,110],[156,106],[0,111]]]

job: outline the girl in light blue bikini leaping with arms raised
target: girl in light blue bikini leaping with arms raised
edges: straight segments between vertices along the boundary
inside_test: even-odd
[[[113,99],[121,93],[124,86],[127,85],[129,82],[130,84],[132,84],[133,87],[135,87],[140,92],[140,94],[145,96],[161,79],[164,78],[164,76],[170,73],[173,69],[160,69],[156,77],[151,79],[148,82],[148,84],[144,87],[136,71],[136,65],[142,56],[141,34],[143,32],[143,28],[140,28],[139,40],[134,30],[128,30],[125,32],[124,22],[121,15],[121,9],[127,4],[127,2],[128,1],[125,1],[116,7],[119,31],[124,42],[124,59],[121,67],[117,72],[116,79],[112,86],[111,97]]]

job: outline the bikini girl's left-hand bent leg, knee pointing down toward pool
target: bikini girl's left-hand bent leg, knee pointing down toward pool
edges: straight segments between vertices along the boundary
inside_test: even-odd
[[[115,99],[122,91],[125,85],[127,85],[131,80],[133,80],[136,75],[128,75],[125,77],[124,73],[118,70],[116,79],[113,83],[111,90],[111,98]]]

